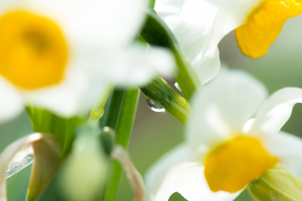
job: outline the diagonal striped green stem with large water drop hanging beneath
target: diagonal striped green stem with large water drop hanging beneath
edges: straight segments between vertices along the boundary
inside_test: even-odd
[[[178,95],[171,86],[157,75],[151,83],[140,88],[147,98],[159,103],[166,111],[183,124],[190,119],[191,106],[182,96]]]

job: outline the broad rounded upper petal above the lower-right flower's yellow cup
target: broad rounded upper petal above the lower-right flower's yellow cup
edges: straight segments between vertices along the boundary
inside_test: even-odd
[[[266,95],[266,88],[251,75],[234,70],[221,72],[192,99],[189,142],[217,146],[241,133]]]

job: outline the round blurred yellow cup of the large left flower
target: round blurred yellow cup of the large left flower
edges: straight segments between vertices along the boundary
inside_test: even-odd
[[[65,39],[52,21],[25,12],[0,18],[0,74],[24,89],[59,83],[67,60]]]

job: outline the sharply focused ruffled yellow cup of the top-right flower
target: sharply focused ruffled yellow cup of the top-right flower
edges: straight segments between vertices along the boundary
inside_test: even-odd
[[[235,30],[241,52],[251,58],[267,53],[284,22],[302,12],[301,0],[266,0],[253,11],[245,24]]]

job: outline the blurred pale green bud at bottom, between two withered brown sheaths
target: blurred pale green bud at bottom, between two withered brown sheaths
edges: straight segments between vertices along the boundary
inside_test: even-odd
[[[95,200],[106,181],[108,156],[98,137],[91,134],[89,129],[79,132],[60,176],[61,187],[66,200]]]

